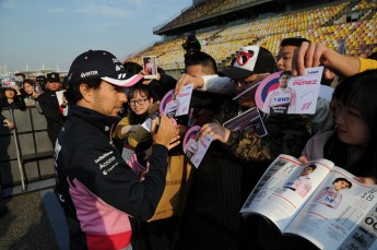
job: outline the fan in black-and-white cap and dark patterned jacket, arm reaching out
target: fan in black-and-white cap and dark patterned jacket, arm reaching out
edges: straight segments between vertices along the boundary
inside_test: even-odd
[[[274,73],[276,64],[272,53],[260,46],[247,46],[239,49],[233,67],[220,74],[233,79],[236,94],[260,82],[260,76]],[[202,126],[198,140],[210,134],[214,141],[219,140],[226,145],[227,151],[255,166],[268,164],[281,153],[297,155],[309,139],[310,121],[306,116],[282,116],[271,114],[263,116],[262,122],[269,135],[261,138],[255,131],[241,129],[231,131],[222,124],[229,119],[256,107],[256,88],[245,93],[236,100],[225,99],[213,116],[212,122]],[[266,168],[260,167],[260,174]],[[257,169],[256,169],[257,172]]]

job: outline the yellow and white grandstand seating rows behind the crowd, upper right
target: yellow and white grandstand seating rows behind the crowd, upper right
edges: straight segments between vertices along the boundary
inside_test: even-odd
[[[200,19],[203,13],[216,13],[220,10],[224,11],[224,8],[235,8],[250,1],[224,0],[209,7],[210,2],[213,1],[188,9],[173,22],[179,23],[180,19],[189,20],[187,12],[190,11],[196,19]],[[368,0],[357,3],[342,2],[249,21],[235,26],[217,27],[210,32],[198,33],[197,38],[201,43],[204,41],[202,51],[213,56],[220,67],[228,64],[229,58],[240,46],[251,44],[263,46],[276,56],[280,41],[285,37],[305,37],[332,49],[338,49],[345,39],[345,53],[365,57],[377,50],[376,10],[377,3]],[[346,22],[347,16],[356,12],[358,19]],[[181,45],[185,38],[157,43],[126,60],[141,63],[142,56],[155,55],[161,68],[167,71],[182,69],[185,50]]]

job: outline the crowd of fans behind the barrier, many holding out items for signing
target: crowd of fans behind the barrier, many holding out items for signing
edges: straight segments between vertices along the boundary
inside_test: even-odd
[[[377,70],[374,69],[377,68],[377,61],[341,55],[321,44],[295,37],[282,40],[276,60],[269,50],[260,46],[241,47],[240,53],[245,56],[256,47],[259,53],[252,69],[239,63],[239,58],[235,58],[231,68],[217,72],[214,59],[200,51],[200,46],[197,46],[195,49],[187,49],[186,70],[177,81],[160,69],[157,79],[141,80],[126,88],[126,105],[117,114],[119,120],[113,132],[113,140],[118,141],[118,144],[115,143],[118,145],[117,151],[120,154],[125,150],[130,151],[127,154],[123,152],[125,160],[129,160],[133,154],[145,154],[153,145],[153,136],[141,128],[141,124],[158,110],[162,97],[170,90],[178,94],[184,85],[193,83],[196,91],[191,108],[211,109],[213,114],[211,117],[198,117],[204,119],[204,122],[201,122],[199,139],[210,134],[227,148],[228,154],[258,166],[256,175],[261,176],[279,154],[290,154],[302,156],[303,163],[317,157],[329,158],[356,175],[358,181],[376,183],[377,158],[373,150],[376,141],[374,128],[377,111],[374,102],[377,94],[374,91]],[[142,67],[134,62],[125,62],[123,66],[128,72],[141,75],[145,73]],[[332,111],[329,103],[319,102],[313,116],[264,114],[262,119],[268,135],[263,138],[254,130],[231,131],[222,126],[240,111],[256,106],[255,91],[246,93],[237,100],[232,99],[234,95],[271,73],[284,71],[297,75],[303,74],[305,68],[316,66],[326,67],[322,83],[335,87]],[[25,78],[21,85],[23,87],[20,88],[15,84],[2,90],[1,107],[24,110],[28,106],[38,106],[46,117],[49,139],[55,146],[66,121],[67,109],[70,114],[72,106],[70,103],[67,104],[64,94],[58,97],[61,85],[70,87],[69,84],[61,84],[56,72],[38,76],[37,81]],[[214,102],[214,97],[211,96],[213,93],[222,96],[215,105],[211,105]],[[2,120],[9,129],[15,126],[7,117],[2,117]],[[192,126],[185,118],[177,119],[176,122],[178,127],[175,140],[184,136],[187,128]],[[168,150],[177,148],[178,143],[175,141]],[[331,144],[330,148],[334,151],[323,152],[323,143]],[[344,152],[340,152],[340,148],[344,148]],[[357,153],[344,157],[350,152],[347,148],[353,148],[353,152]],[[180,151],[179,147],[177,151]],[[146,164],[148,157],[139,160]],[[143,181],[142,176],[149,171],[149,164],[143,169],[139,172],[140,181]],[[268,227],[262,225],[263,223],[266,222],[260,219],[249,222],[252,228]],[[262,233],[254,230],[252,234],[256,236],[256,246],[261,246],[259,237],[262,236],[259,234]]]

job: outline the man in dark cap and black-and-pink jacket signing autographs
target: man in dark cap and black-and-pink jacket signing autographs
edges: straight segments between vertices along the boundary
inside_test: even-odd
[[[126,163],[111,141],[127,102],[123,87],[140,80],[104,50],[89,50],[72,62],[66,93],[70,108],[56,144],[57,194],[71,249],[132,249],[129,216],[149,219],[163,194],[167,146],[176,133],[172,121],[165,116],[152,121],[143,181],[132,169],[141,166],[134,158]]]

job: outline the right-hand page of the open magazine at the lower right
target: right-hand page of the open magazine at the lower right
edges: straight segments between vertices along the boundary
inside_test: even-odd
[[[334,167],[286,233],[320,249],[377,249],[377,186]]]

